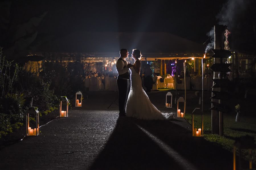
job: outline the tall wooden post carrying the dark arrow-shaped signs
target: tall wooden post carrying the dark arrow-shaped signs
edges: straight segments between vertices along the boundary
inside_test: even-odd
[[[225,30],[226,27],[224,25],[214,25],[214,49],[224,49]],[[221,63],[221,60],[221,58],[214,58],[213,63]],[[219,74],[221,75],[221,72],[214,71],[213,79],[220,79],[221,77],[219,77]],[[214,85],[214,82],[212,85]],[[221,89],[212,88],[212,91],[220,92]],[[214,96],[213,93],[212,96]],[[218,99],[212,99],[212,102],[221,103]],[[212,107],[213,106],[214,105],[212,104]],[[212,110],[212,133],[223,135],[223,114],[216,110]]]

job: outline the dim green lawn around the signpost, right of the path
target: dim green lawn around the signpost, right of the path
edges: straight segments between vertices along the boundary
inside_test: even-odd
[[[186,120],[191,124],[191,114],[186,113]],[[241,117],[240,122],[235,122],[235,115],[224,114],[224,136],[211,134],[211,114],[204,114],[204,139],[221,145],[224,149],[233,152],[235,138],[244,135],[253,136],[256,141],[256,118]],[[201,116],[194,116],[194,128],[201,128]],[[242,150],[243,158],[249,160],[249,150]],[[256,163],[256,150],[252,152],[253,162]]]

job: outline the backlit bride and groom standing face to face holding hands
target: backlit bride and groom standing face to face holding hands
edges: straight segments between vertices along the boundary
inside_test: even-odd
[[[135,61],[134,64],[127,64],[126,58],[128,58],[128,56],[128,50],[121,49],[120,58],[116,62],[118,71],[117,86],[119,93],[119,116],[128,116],[144,120],[173,119],[174,114],[162,113],[159,111],[151,103],[148,95],[142,88],[140,78],[141,51],[137,49],[132,50],[132,58]]]

